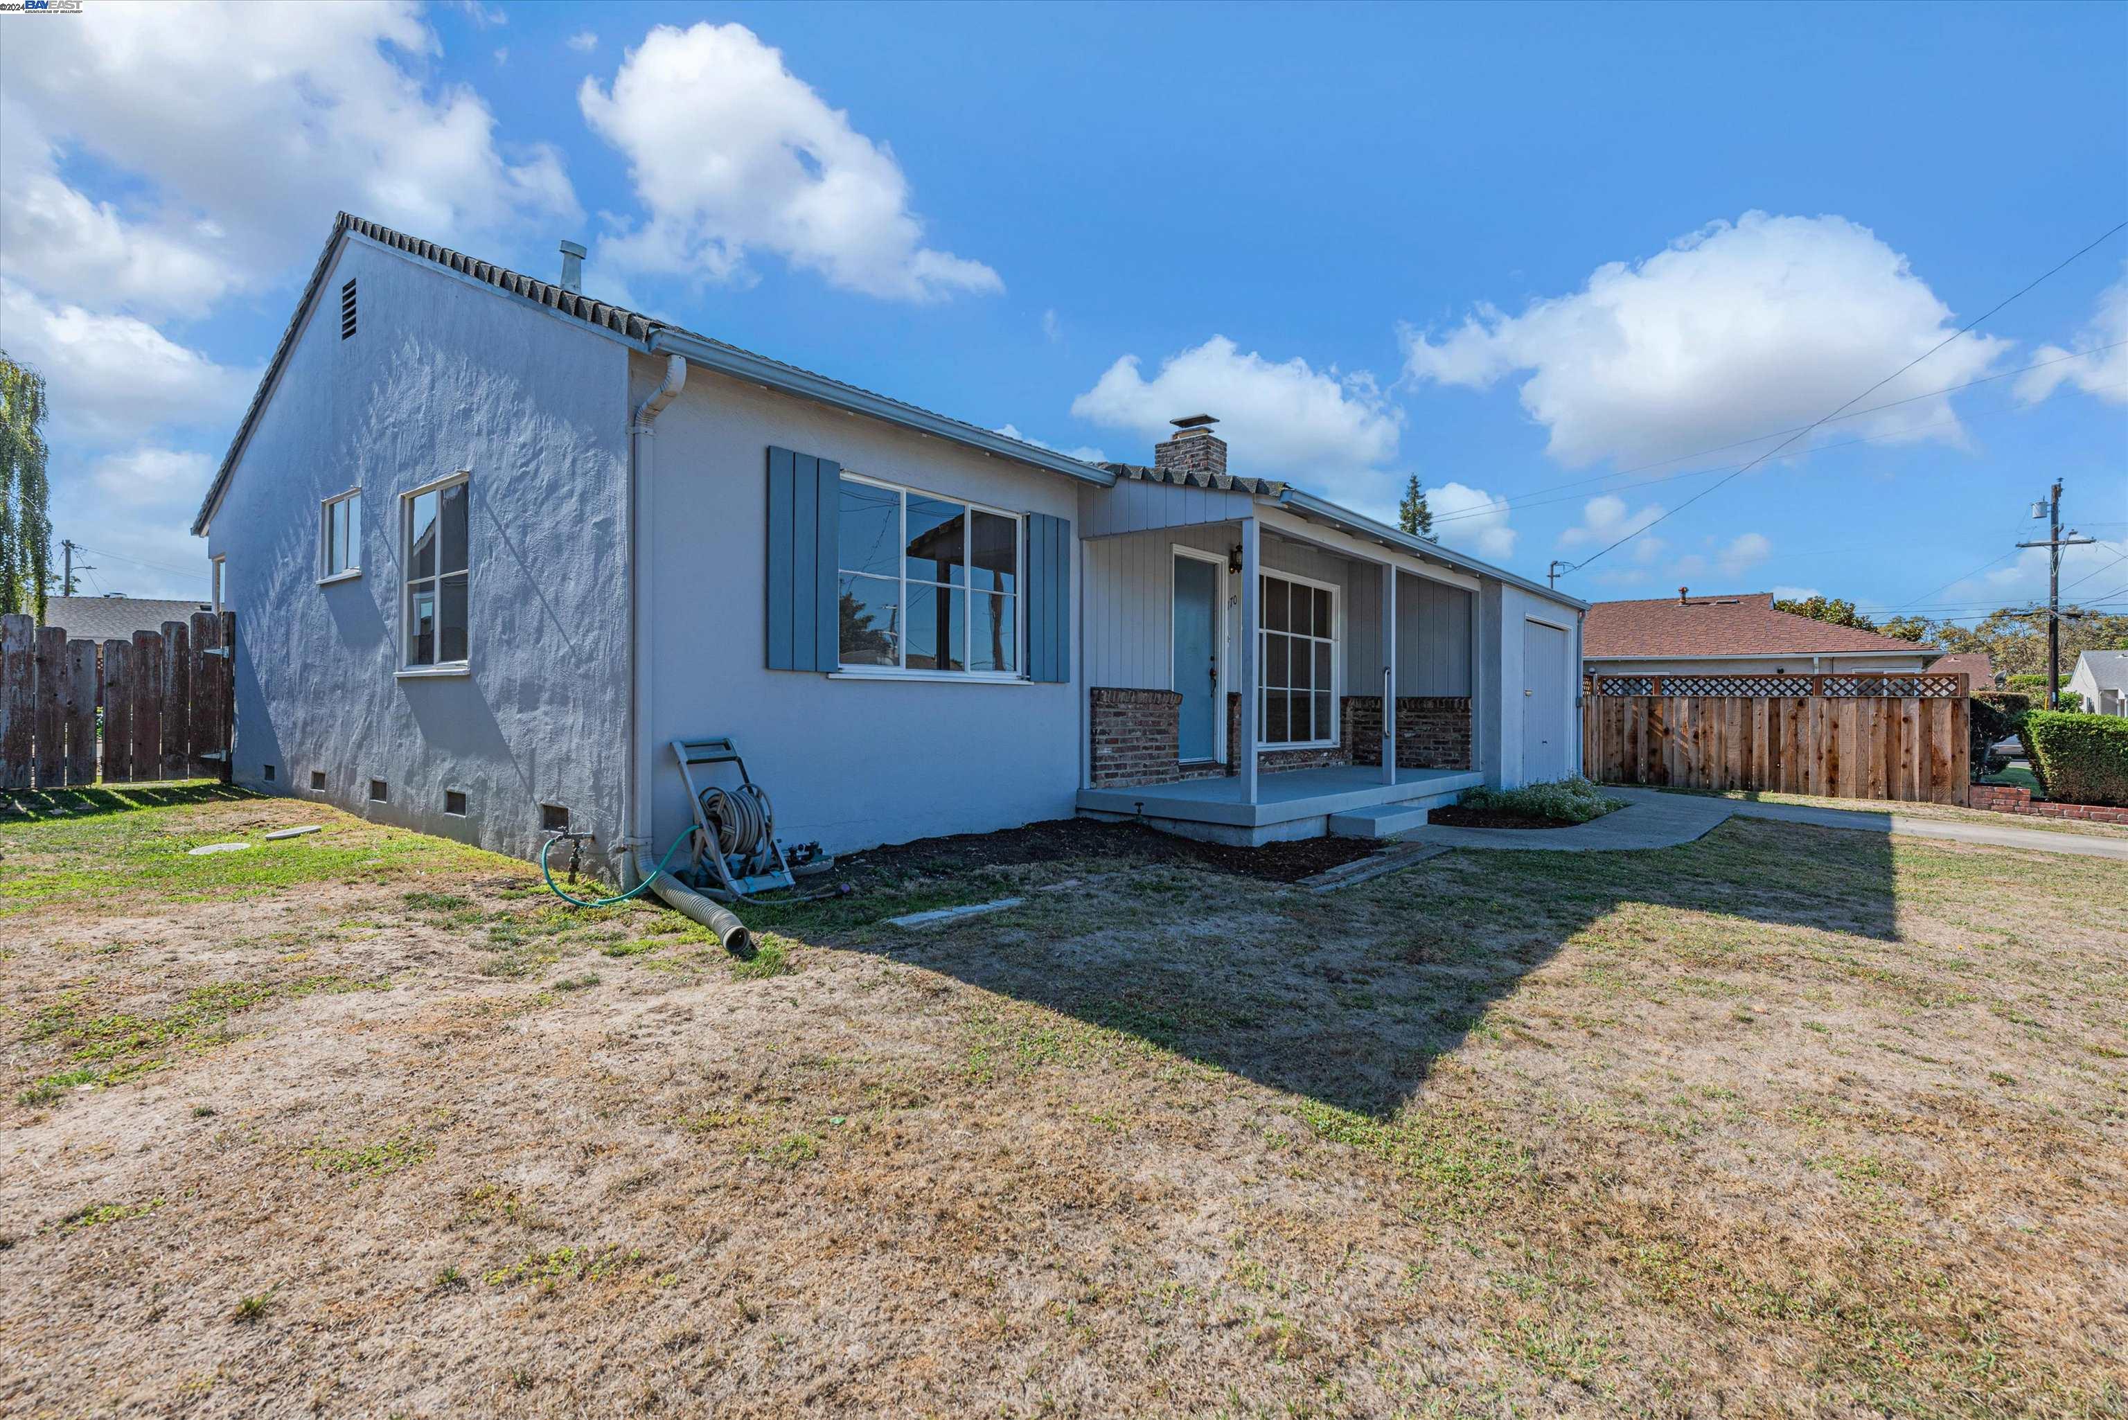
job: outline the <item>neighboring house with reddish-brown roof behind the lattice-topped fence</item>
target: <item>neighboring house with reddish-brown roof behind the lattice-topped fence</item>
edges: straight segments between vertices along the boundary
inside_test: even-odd
[[[1885,675],[1941,660],[1932,645],[1777,611],[1773,592],[1594,602],[1581,664],[1590,675]]]

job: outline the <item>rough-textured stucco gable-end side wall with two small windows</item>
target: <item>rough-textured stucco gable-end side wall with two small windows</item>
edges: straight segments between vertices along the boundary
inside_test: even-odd
[[[626,385],[626,347],[592,328],[347,238],[209,526],[236,611],[238,783],[311,796],[323,771],[330,803],[515,856],[541,803],[617,837]],[[458,468],[470,675],[400,679],[400,494]],[[319,500],[353,485],[362,577],[317,585]]]

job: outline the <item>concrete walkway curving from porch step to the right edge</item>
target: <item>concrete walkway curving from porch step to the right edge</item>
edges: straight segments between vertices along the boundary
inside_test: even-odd
[[[1647,847],[1675,847],[1692,843],[1713,830],[1730,815],[1770,818],[1788,824],[1813,824],[1817,828],[1853,828],[1860,832],[1907,835],[1915,839],[1949,839],[1954,843],[1981,843],[1988,847],[2028,847],[2043,854],[2079,854],[2085,858],[2115,858],[2128,862],[2128,839],[2109,839],[2081,832],[2049,832],[2045,828],[2019,828],[2015,824],[1966,824],[1941,818],[1915,818],[1911,813],[1888,813],[1881,809],[1807,809],[1802,805],[1766,805],[1743,798],[1709,798],[1702,794],[1664,794],[1660,790],[1607,788],[1605,794],[1624,798],[1617,813],[1575,824],[1573,828],[1447,828],[1426,824],[1396,835],[1398,843],[1428,843],[1439,847],[1487,847],[1522,852],[1630,852]]]

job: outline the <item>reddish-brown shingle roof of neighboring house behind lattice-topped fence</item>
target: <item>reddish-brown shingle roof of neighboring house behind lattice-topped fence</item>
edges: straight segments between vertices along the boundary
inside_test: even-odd
[[[1587,660],[1662,660],[1694,656],[1853,656],[1858,651],[1928,651],[1853,626],[1773,609],[1773,592],[1739,596],[1594,602],[1581,630]]]

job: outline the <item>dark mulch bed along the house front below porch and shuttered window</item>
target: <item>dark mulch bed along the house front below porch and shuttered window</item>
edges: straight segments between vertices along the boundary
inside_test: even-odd
[[[1055,818],[998,832],[962,832],[947,839],[917,839],[849,854],[836,862],[836,877],[911,877],[941,875],[985,866],[1017,866],[1021,862],[1060,862],[1068,858],[1130,858],[1166,862],[1236,877],[1258,877],[1292,884],[1326,869],[1366,858],[1375,845],[1366,839],[1302,839],[1298,843],[1266,843],[1264,847],[1228,847],[1198,843],[1147,828],[1145,824],[1100,824],[1087,818]]]

